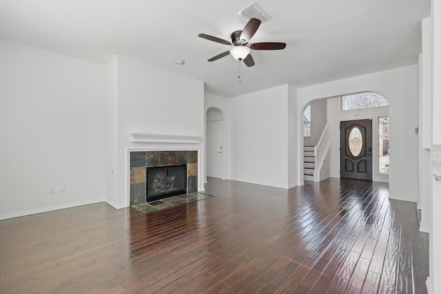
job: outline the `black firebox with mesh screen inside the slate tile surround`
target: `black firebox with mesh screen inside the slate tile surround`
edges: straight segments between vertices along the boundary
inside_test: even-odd
[[[187,193],[187,165],[147,167],[146,201]]]

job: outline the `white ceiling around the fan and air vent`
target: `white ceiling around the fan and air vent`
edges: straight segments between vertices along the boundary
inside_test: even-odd
[[[416,64],[420,21],[430,0],[258,0],[273,19],[250,43],[285,42],[285,50],[256,51],[256,65],[226,56],[247,19],[238,12],[253,0],[41,1],[0,0],[0,37],[105,64],[121,54],[205,82],[223,97],[283,85],[305,87]],[[185,65],[175,61],[183,59]]]

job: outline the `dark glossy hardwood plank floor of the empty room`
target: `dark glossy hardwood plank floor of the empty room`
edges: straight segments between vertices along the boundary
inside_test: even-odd
[[[428,236],[387,184],[277,189],[141,215],[90,204],[0,221],[1,293],[427,293]]]

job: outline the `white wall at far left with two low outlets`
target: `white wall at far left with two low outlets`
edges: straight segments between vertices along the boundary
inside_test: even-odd
[[[105,67],[0,41],[0,218],[103,201],[103,109]]]

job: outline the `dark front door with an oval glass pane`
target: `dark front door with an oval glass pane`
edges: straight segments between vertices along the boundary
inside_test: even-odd
[[[340,178],[372,180],[372,120],[340,122]]]

